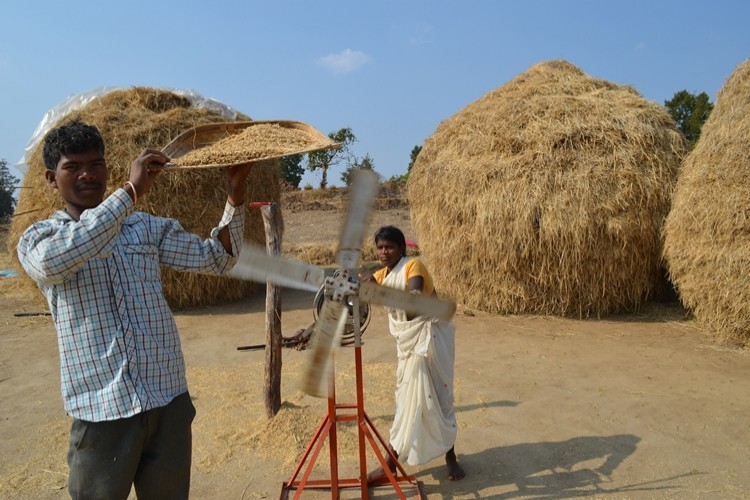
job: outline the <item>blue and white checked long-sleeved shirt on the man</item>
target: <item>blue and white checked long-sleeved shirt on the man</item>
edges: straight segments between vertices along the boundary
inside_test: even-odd
[[[174,219],[135,212],[122,189],[79,221],[65,211],[29,227],[23,268],[49,303],[66,412],[90,422],[158,408],[187,391],[185,364],[160,266],[220,275],[235,258],[217,238],[228,226],[239,255],[244,206],[227,204],[202,240]]]

